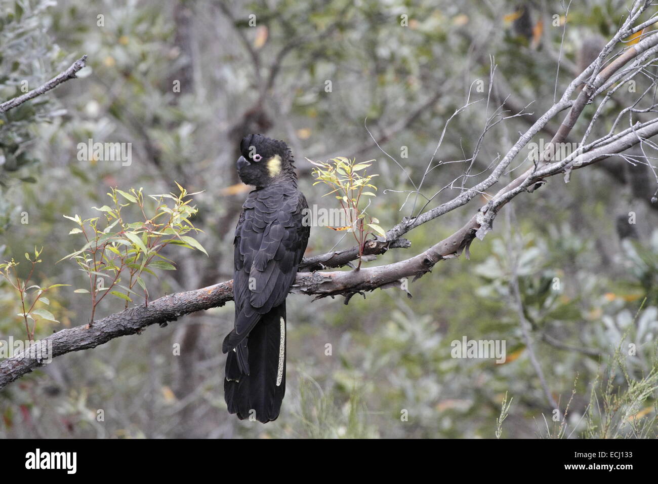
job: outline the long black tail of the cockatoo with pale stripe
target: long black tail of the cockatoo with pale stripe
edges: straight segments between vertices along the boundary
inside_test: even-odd
[[[226,336],[230,338],[230,335]],[[247,364],[245,364],[247,362]],[[266,423],[279,416],[286,393],[286,302],[261,318],[226,358],[224,398],[238,418]]]

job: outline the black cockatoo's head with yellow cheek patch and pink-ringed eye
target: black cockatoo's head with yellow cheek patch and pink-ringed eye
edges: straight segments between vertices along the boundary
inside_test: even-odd
[[[238,175],[247,185],[268,186],[283,178],[295,178],[293,157],[285,142],[249,134],[240,143]]]

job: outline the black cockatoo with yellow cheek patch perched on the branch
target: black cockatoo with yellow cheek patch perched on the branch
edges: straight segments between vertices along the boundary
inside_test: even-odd
[[[279,416],[286,392],[286,297],[309,241],[309,206],[285,142],[250,134],[240,153],[240,180],[255,188],[234,238],[236,309],[222,343],[224,399],[230,414],[267,423]]]

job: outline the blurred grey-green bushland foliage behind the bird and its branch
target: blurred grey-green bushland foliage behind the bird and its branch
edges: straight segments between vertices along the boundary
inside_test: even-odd
[[[84,274],[70,261],[56,263],[80,246],[63,215],[97,215],[91,207],[107,203],[109,188],[160,194],[175,191],[176,181],[189,192],[205,190],[195,196],[193,222],[204,230],[198,238],[209,257],[167,248],[178,270],[151,278],[153,298],[232,277],[234,226],[246,194],[234,163],[247,133],[288,142],[301,188],[320,207],[332,201],[312,186],[305,157],[375,159],[370,171],[380,175],[379,190],[368,212],[388,229],[412,213],[407,174],[420,181],[469,92],[471,101],[481,101],[449,122],[435,158],[445,166],[422,186],[428,197],[463,173],[464,163],[447,162],[472,156],[495,107],[505,101],[511,115],[529,105],[526,112],[534,114],[499,123],[484,138],[473,163],[474,173],[486,176],[517,132],[551,105],[557,59],[559,96],[615,32],[628,1],[572,3],[562,49],[565,12],[558,1],[1,0],[0,6],[3,101],[22,94],[23,82],[35,88],[89,56],[80,79],[0,115],[0,259],[24,260],[24,252],[43,246],[35,279],[72,284],[49,295],[48,310],[60,323],[39,321],[43,337],[88,322],[88,295],[73,292],[84,287]],[[486,109],[492,58],[496,82]],[[478,80],[484,92],[474,88]],[[624,96],[632,94],[606,108],[599,134],[609,130]],[[576,136],[593,112],[584,113]],[[131,143],[132,163],[79,161],[77,146],[89,139]],[[457,186],[459,180],[430,206],[455,196]],[[655,437],[655,188],[645,165],[609,159],[574,173],[569,184],[556,177],[519,196],[484,242],[473,244],[470,261],[443,261],[409,285],[411,299],[395,288],[355,296],[348,306],[342,298],[291,296],[288,388],[274,423],[238,421],[226,412],[220,348],[233,324],[228,304],[66,354],[14,382],[0,392],[0,437],[493,438],[506,393],[513,400],[503,438]],[[418,254],[483,202],[413,230],[411,248],[370,265]],[[414,206],[418,211],[420,200]],[[314,228],[307,254],[339,240],[337,232]],[[345,238],[339,246],[351,245]],[[22,263],[19,273],[27,269]],[[562,412],[569,402],[563,425],[553,421],[530,362],[514,275],[547,387]],[[123,308],[110,299],[97,319]],[[15,292],[0,284],[0,340],[26,337],[17,312]],[[463,336],[505,340],[506,362],[451,358],[451,341]]]

